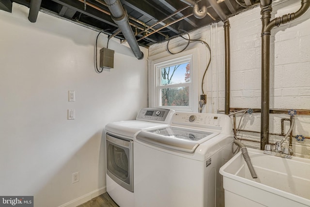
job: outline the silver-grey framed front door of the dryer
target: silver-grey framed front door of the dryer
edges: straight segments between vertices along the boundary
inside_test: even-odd
[[[133,141],[106,134],[107,174],[133,192]]]

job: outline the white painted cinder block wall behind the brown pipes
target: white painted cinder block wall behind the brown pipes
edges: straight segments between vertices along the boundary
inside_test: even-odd
[[[294,13],[300,8],[300,0],[281,0],[273,5],[272,18]],[[231,24],[231,107],[261,108],[261,9],[256,7],[247,12],[230,17]],[[207,107],[204,112],[224,110],[225,50],[223,23],[212,24],[190,33],[191,39],[202,39],[212,47],[212,65],[207,71]],[[271,89],[270,108],[310,109],[310,11],[300,18],[281,25],[271,32]],[[169,48],[175,51],[185,47],[182,38],[171,40]],[[149,56],[160,57],[167,54],[167,42],[151,46]],[[199,43],[191,43],[189,48],[200,49],[201,77],[209,54]],[[188,48],[188,49],[189,49]],[[197,81],[197,80],[194,80]],[[202,93],[201,91],[199,93]],[[198,107],[198,106],[197,106]],[[270,132],[280,133],[280,119],[288,115],[270,116]],[[239,122],[237,117],[237,124]],[[310,116],[298,115],[293,129],[294,135],[310,137]],[[260,131],[260,114],[246,115],[241,121],[244,129]],[[289,123],[285,122],[285,131]],[[243,138],[260,140],[259,134],[248,133]],[[271,136],[271,142],[280,140]],[[260,143],[245,142],[252,147]],[[293,140],[295,155],[310,158],[310,140],[298,143]]]

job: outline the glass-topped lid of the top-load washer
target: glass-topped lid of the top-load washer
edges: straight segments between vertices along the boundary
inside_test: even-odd
[[[216,135],[218,133],[178,127],[164,127],[140,131],[136,135],[136,139],[157,146],[193,153],[199,144]]]

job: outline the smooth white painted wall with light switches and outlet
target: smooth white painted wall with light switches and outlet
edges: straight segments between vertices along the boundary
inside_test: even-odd
[[[31,23],[28,13],[15,3],[12,14],[0,10],[0,195],[34,195],[35,207],[75,206],[105,192],[103,130],[147,107],[147,61],[110,40],[114,69],[98,74],[97,32],[42,12]],[[106,45],[102,34],[98,48]]]

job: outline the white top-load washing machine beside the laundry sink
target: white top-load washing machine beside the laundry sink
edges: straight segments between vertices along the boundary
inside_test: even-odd
[[[224,207],[219,168],[233,157],[225,114],[175,112],[134,138],[135,207]]]

